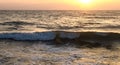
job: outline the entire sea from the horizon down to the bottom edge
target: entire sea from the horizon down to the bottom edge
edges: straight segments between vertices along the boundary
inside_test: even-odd
[[[0,10],[0,65],[120,65],[120,11]]]

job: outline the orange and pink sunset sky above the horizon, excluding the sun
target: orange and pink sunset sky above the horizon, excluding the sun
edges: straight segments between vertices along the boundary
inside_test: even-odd
[[[120,0],[0,0],[0,10],[120,10]]]

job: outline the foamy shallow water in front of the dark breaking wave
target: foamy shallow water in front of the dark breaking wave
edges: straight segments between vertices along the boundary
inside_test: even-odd
[[[75,45],[0,40],[0,65],[120,65],[119,50]]]

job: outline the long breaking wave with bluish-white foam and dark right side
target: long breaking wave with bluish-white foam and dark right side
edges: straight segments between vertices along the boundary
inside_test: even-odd
[[[12,32],[0,33],[0,39],[14,39],[14,40],[41,40],[50,41],[55,39],[102,39],[102,40],[119,40],[119,33],[111,32],[66,32],[66,31],[46,31],[46,32]]]

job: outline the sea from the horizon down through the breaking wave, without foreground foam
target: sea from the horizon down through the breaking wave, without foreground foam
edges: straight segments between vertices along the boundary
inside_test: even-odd
[[[107,36],[120,39],[120,11],[0,11],[0,38],[53,40]],[[102,38],[103,38],[102,37]]]

